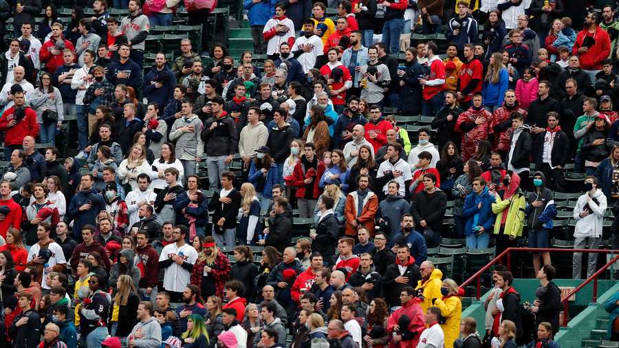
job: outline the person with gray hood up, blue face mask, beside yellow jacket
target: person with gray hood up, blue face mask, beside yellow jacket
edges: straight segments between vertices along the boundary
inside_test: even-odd
[[[536,171],[532,177],[540,176],[542,184],[539,193],[534,190],[527,199],[527,228],[529,232],[542,229],[552,229],[552,219],[556,216],[556,205],[552,191],[546,188],[546,177],[541,171]],[[540,200],[541,206],[533,206],[533,202]]]

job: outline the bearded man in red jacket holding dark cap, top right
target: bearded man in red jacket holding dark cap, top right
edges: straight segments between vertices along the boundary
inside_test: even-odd
[[[611,52],[610,36],[599,23],[600,14],[589,12],[585,17],[585,28],[576,35],[576,43],[572,48],[572,54],[578,54],[583,72],[589,76],[591,83],[595,82],[596,74],[602,69],[602,61]]]

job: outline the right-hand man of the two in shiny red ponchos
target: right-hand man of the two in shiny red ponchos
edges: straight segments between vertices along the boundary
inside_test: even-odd
[[[503,95],[503,106],[495,110],[492,117],[492,131],[495,133],[495,142],[492,148],[506,158],[510,151],[510,139],[512,138],[512,118],[520,115],[527,118],[527,111],[522,109],[513,89],[508,89]]]

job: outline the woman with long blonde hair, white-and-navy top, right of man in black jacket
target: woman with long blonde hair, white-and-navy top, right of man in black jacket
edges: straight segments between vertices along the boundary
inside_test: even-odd
[[[247,245],[255,244],[260,233],[260,201],[256,197],[254,186],[249,182],[241,184],[241,208],[237,215],[239,227],[237,237]]]

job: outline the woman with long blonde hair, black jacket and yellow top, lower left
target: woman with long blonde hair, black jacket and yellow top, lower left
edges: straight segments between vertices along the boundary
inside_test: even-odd
[[[127,337],[131,329],[138,323],[135,312],[138,312],[140,296],[135,291],[131,276],[122,274],[113,283],[116,288],[112,298],[112,309],[109,311],[111,336]]]

